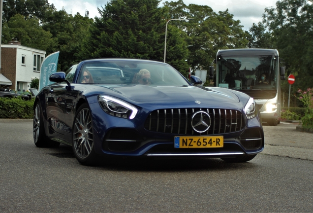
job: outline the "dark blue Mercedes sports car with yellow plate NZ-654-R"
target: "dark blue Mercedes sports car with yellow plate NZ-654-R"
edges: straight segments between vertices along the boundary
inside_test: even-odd
[[[77,160],[98,156],[213,157],[246,162],[264,148],[259,110],[235,90],[200,87],[168,64],[96,59],[53,73],[36,96],[38,147],[71,145]],[[197,86],[198,85],[198,86]]]

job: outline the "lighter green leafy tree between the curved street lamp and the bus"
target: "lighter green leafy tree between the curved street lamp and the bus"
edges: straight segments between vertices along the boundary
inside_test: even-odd
[[[239,20],[226,11],[215,13],[211,7],[189,4],[183,0],[166,1],[167,18],[186,19],[189,22],[173,22],[188,35],[188,64],[193,69],[208,70],[219,49],[244,48],[248,45],[249,34],[242,30]]]

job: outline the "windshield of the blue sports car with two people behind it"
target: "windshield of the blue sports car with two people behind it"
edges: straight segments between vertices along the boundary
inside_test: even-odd
[[[77,83],[188,85],[174,68],[149,61],[91,61],[80,69]]]

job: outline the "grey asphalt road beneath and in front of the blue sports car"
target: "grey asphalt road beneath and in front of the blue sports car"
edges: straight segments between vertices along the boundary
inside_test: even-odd
[[[313,212],[313,160],[283,157],[312,150],[313,134],[293,129],[264,126],[266,148],[248,163],[120,159],[86,167],[69,146],[37,148],[31,122],[0,123],[0,212]]]

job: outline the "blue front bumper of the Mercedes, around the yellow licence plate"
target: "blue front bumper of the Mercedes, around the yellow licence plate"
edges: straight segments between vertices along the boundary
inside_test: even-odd
[[[182,135],[149,131],[144,127],[145,118],[129,120],[114,117],[105,113],[97,103],[90,107],[94,123],[94,148],[98,154],[225,157],[257,154],[264,148],[264,133],[258,116],[250,119],[240,131],[214,134],[223,136],[222,148],[174,148],[174,137]]]

